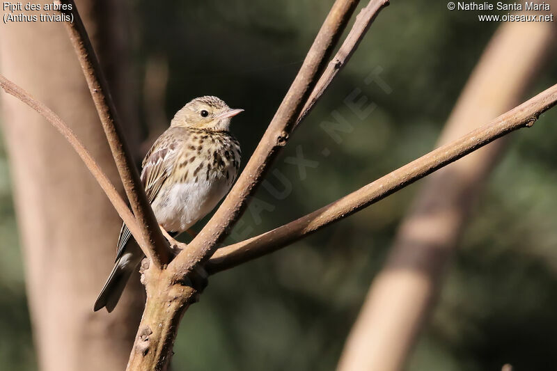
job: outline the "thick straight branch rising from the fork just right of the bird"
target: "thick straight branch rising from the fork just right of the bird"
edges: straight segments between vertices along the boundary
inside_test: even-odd
[[[205,228],[171,263],[177,270],[189,271],[208,258],[244,212],[248,198],[256,191],[262,176],[278,151],[288,141],[295,121],[317,82],[325,61],[340,38],[358,0],[336,0],[309,50],[295,80],[275,113],[265,135],[249,159],[221,207]]]

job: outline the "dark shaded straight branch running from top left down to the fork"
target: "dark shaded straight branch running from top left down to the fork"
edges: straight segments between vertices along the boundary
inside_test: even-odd
[[[132,160],[131,152],[125,142],[123,131],[118,124],[118,116],[116,107],[109,93],[109,88],[100,63],[97,59],[91,40],[87,35],[87,31],[73,0],[63,0],[64,4],[71,6],[70,10],[61,10],[62,13],[72,16],[73,22],[64,22],[70,40],[75,49],[79,64],[84,72],[85,79],[99,118],[107,135],[114,161],[118,173],[122,178],[127,198],[134,212],[134,216],[139,223],[141,230],[141,239],[143,243],[139,244],[143,252],[157,267],[162,267],[171,259],[171,253],[168,249],[168,243],[162,235],[155,214],[153,214],[150,204],[147,200],[143,185],[139,178],[139,172]],[[128,226],[129,227],[129,226]]]

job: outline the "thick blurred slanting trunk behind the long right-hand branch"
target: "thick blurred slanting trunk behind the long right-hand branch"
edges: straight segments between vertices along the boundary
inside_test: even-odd
[[[503,24],[466,84],[439,144],[499,115],[523,95],[552,42],[547,23]],[[416,196],[361,308],[338,370],[401,370],[441,285],[475,200],[504,148],[496,141],[432,175]]]

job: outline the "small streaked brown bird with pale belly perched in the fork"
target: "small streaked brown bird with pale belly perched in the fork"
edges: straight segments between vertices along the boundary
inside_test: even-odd
[[[217,97],[186,104],[143,159],[141,181],[158,223],[175,236],[207,215],[225,196],[240,168],[240,144],[228,132],[230,109]],[[111,312],[131,274],[144,258],[125,224],[118,238],[116,265],[95,301]]]

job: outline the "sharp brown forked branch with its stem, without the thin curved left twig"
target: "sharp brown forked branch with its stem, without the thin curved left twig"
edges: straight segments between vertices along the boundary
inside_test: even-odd
[[[84,25],[79,18],[74,1],[65,0],[63,2],[72,5],[72,10],[68,10],[68,12],[72,13],[74,22],[68,22],[65,25],[84,70],[127,196],[130,198],[132,210],[139,225],[136,232],[143,236],[141,239],[143,244],[140,242],[141,247],[154,262],[155,267],[164,267],[170,261],[166,241],[157,226],[155,216],[152,214],[139,180],[139,174],[130,152],[126,148],[116,119],[116,109],[114,109],[107,84],[102,77],[93,47],[91,47]],[[226,237],[228,230],[245,210],[249,196],[256,190],[273,159],[288,141],[292,130],[311,110],[313,104],[350,58],[377,12],[388,3],[386,0],[370,1],[356,19],[352,31],[337,56],[325,70],[326,61],[358,2],[358,0],[335,1],[295,81],[278,107],[256,151],[207,226],[185,250],[168,264],[168,269],[149,268],[143,272],[143,282],[146,285],[148,299],[130,356],[130,363],[127,366],[128,370],[159,370],[168,366],[178,324],[196,295],[196,290],[191,287],[191,281],[189,281],[191,277],[188,274],[198,263],[205,262],[214,253],[217,244],[223,237]],[[321,75],[322,71],[325,72]],[[320,75],[321,79],[319,79]],[[317,82],[318,80],[319,82]],[[547,111],[556,102],[557,86],[553,86],[500,116],[489,125],[402,166],[393,173],[322,207],[320,210],[258,237],[221,249],[208,260],[206,268],[211,273],[215,273],[234,267],[320,230],[334,221],[343,219],[345,216],[393,194],[411,182],[415,182],[500,136],[520,127],[533,125],[540,113]],[[86,160],[84,159],[84,161]],[[128,220],[130,219],[130,215],[126,217]]]

